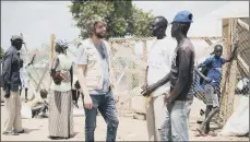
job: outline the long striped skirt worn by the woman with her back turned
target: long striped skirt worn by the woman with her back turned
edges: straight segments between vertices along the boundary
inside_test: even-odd
[[[71,91],[53,91],[49,99],[49,135],[70,138],[73,134],[73,103]]]

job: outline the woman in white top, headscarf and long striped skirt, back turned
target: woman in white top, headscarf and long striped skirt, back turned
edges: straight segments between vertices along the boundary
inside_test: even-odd
[[[73,61],[67,56],[69,45],[66,40],[56,43],[56,59],[50,76],[52,94],[49,99],[49,139],[69,139],[73,131],[72,104],[72,66]]]

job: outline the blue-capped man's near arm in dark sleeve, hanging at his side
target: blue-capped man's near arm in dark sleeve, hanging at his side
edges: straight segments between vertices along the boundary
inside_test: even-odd
[[[172,92],[168,97],[168,103],[172,103],[183,91],[184,86],[188,85],[190,64],[191,64],[191,52],[188,50],[180,49],[179,54],[179,70],[178,79],[176,85],[174,86]]]

